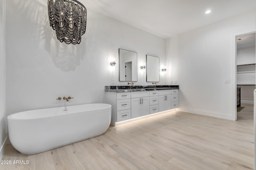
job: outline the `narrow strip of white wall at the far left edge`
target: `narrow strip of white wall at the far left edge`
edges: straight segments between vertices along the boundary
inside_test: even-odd
[[[6,139],[6,33],[5,0],[0,0],[0,160],[4,152]]]

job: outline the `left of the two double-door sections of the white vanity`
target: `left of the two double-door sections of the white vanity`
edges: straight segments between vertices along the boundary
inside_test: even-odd
[[[149,114],[149,92],[131,92],[131,118]]]

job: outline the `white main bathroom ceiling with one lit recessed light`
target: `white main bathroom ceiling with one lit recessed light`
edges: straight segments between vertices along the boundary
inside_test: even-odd
[[[256,9],[256,0],[79,0],[116,20],[169,38]],[[205,14],[206,10],[212,10]]]

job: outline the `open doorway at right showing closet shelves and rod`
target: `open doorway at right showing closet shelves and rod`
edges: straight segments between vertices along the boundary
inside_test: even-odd
[[[253,120],[256,83],[256,33],[236,36],[237,120]]]

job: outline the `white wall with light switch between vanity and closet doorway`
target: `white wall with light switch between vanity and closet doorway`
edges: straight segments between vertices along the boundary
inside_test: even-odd
[[[252,11],[167,40],[167,84],[178,80],[178,110],[234,119],[232,45],[236,33],[255,29]]]

